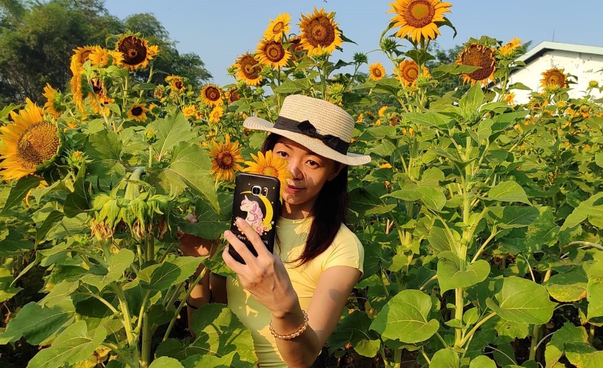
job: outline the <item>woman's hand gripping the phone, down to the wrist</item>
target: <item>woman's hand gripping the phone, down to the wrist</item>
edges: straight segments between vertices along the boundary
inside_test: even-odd
[[[235,234],[230,230],[224,232],[224,238],[245,261],[245,264],[241,264],[232,258],[228,247],[222,253],[226,265],[239,275],[242,287],[248,290],[258,302],[270,309],[274,316],[283,317],[289,312],[299,309],[297,294],[293,290],[283,262],[278,256],[268,251],[260,236],[247,221],[239,217],[236,224],[247,235],[257,252],[257,257],[255,257]]]

